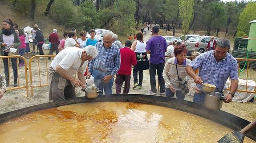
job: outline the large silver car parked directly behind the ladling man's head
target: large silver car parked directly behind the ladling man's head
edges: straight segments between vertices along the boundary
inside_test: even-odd
[[[219,38],[214,37],[214,40],[218,40]],[[206,50],[208,41],[211,40],[211,36],[194,36],[185,41],[185,45],[188,50],[198,51],[203,53]]]

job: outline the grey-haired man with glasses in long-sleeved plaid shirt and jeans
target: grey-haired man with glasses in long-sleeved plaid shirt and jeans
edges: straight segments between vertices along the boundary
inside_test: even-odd
[[[87,77],[93,74],[96,87],[99,90],[104,90],[105,94],[112,94],[113,77],[121,65],[120,50],[118,46],[113,44],[113,41],[113,34],[106,32],[103,36],[103,42],[98,42],[95,45],[98,55],[89,62],[87,73]]]

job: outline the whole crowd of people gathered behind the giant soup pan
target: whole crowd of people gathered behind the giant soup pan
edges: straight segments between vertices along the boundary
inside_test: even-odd
[[[11,19],[6,19],[2,23],[3,29],[0,31],[1,55],[8,56],[6,50],[10,46],[17,49],[16,54],[24,56],[30,51],[27,34],[23,29],[18,29],[18,25],[12,23]],[[15,29],[17,28],[17,29]],[[146,31],[149,31],[150,25]],[[133,86],[135,89],[142,89],[143,71],[149,70],[150,89],[146,92],[156,95],[166,95],[184,99],[187,94],[184,85],[187,83],[195,91],[194,102],[203,103],[204,95],[202,82],[216,85],[215,92],[222,93],[226,88],[225,83],[230,77],[230,93],[225,96],[224,102],[231,102],[238,87],[238,67],[234,57],[228,50],[230,42],[228,39],[221,38],[218,41],[211,40],[208,43],[208,52],[200,54],[193,61],[187,59],[187,48],[179,41],[174,41],[171,46],[167,46],[166,40],[159,35],[159,27],[152,27],[152,35],[147,42],[144,41],[144,31],[138,31],[125,42],[125,46],[118,40],[118,36],[107,31],[103,35],[103,41],[98,42],[94,39],[96,32],[94,29],[89,31],[90,38],[86,39],[86,31],[81,31],[81,38],[77,39],[76,30],[63,33],[60,40],[57,29],[49,35],[51,49],[49,55],[55,51],[56,57],[49,65],[49,100],[63,100],[75,97],[75,87],[82,89],[86,87],[85,78],[93,76],[94,83],[100,94],[112,94],[114,76],[116,93],[129,93],[130,75],[133,66]],[[17,31],[16,31],[17,30]],[[43,55],[42,45],[45,43],[43,32],[34,25],[33,30],[33,53],[37,46],[37,52]],[[148,59],[147,54],[150,54]],[[165,58],[165,56],[174,56]],[[49,59],[51,59],[49,57]],[[16,58],[11,58],[14,85],[17,86],[17,65]],[[0,98],[5,93],[6,86],[9,86],[10,79],[8,73],[8,61],[3,58],[5,78],[0,75]],[[20,59],[19,66],[23,66],[24,61]],[[196,74],[195,70],[199,69]],[[86,71],[88,70],[88,71]],[[78,79],[73,75],[77,73]],[[160,91],[156,89],[156,78]]]

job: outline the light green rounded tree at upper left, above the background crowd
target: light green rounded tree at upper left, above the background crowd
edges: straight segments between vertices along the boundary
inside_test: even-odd
[[[55,22],[65,27],[79,27],[82,15],[78,13],[71,0],[54,0],[50,15]]]

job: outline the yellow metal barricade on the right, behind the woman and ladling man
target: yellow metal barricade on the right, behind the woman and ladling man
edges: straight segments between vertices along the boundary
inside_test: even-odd
[[[172,58],[172,57],[175,57],[175,56],[165,56],[166,58]],[[190,59],[191,61],[193,59],[195,59],[196,57],[187,57],[188,59]],[[245,92],[245,93],[256,93],[256,87],[254,89],[254,91],[249,91],[248,90],[248,75],[249,75],[249,68],[250,68],[250,65],[249,65],[249,62],[256,62],[256,59],[247,59],[247,58],[236,58],[236,61],[238,63],[238,75],[240,75],[240,66],[241,66],[241,62],[244,62],[245,64],[247,64],[247,68],[246,68],[246,77],[244,80],[246,80],[246,85],[245,85],[245,90],[242,90],[242,89],[237,89],[237,91],[240,91],[240,92]],[[256,81],[255,81],[256,82]],[[228,88],[227,90],[230,90],[230,79],[228,80]],[[159,91],[159,84],[158,84],[158,91]]]

